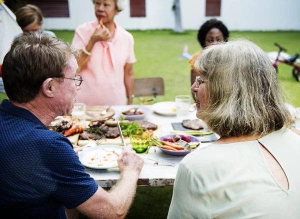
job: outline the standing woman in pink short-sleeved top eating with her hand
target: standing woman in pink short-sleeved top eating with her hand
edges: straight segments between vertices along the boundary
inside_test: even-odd
[[[86,105],[132,103],[134,40],[113,18],[124,0],[92,0],[96,20],[78,26],[72,45],[80,49],[78,66],[84,84],[77,102]]]

